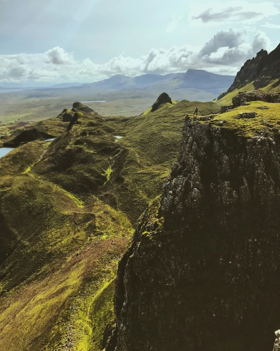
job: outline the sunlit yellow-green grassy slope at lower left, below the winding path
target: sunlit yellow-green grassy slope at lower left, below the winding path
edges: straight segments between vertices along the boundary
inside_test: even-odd
[[[34,155],[29,154],[20,172],[4,172],[18,153],[30,152],[31,144]],[[17,242],[0,267],[1,350],[41,350],[49,340],[46,350],[54,345],[66,350],[69,343],[71,350],[79,350],[81,336],[80,350],[88,350],[91,333],[84,322],[93,297],[114,278],[132,231],[123,213],[93,196],[82,203],[36,174],[35,162],[46,151],[46,143],[28,143],[0,161],[1,216]],[[74,306],[82,322],[77,322]],[[70,341],[65,341],[70,329]]]

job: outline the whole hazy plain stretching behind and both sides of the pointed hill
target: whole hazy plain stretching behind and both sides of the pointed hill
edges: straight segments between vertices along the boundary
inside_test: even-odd
[[[143,92],[119,90],[96,93],[90,89],[33,89],[0,93],[0,125],[15,122],[36,122],[57,116],[64,108],[72,108],[76,101],[104,100],[106,103],[86,103],[103,116],[136,116],[146,111],[167,92],[173,100],[211,101],[212,93],[197,89],[176,89],[161,83],[162,90]]]

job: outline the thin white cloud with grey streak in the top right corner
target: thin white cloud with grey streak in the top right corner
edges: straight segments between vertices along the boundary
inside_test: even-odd
[[[191,11],[192,20],[201,20],[204,24],[228,23],[228,22],[257,22],[263,18],[280,13],[273,2],[248,3],[235,1],[234,6],[226,6],[221,2],[208,3],[208,8],[200,12],[197,5],[193,5]],[[226,6],[226,7],[225,7]],[[199,12],[198,14],[195,14]]]

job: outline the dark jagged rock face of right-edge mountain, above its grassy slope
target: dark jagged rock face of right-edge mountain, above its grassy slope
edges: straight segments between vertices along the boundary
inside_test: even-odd
[[[256,57],[247,60],[237,73],[232,86],[218,99],[250,82],[254,82],[255,88],[258,89],[277,79],[280,79],[280,44],[270,54],[266,50],[261,50]],[[276,82],[275,86],[277,84],[279,82]]]

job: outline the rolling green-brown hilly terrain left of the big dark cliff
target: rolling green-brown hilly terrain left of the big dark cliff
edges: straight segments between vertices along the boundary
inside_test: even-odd
[[[33,125],[56,126],[55,140],[24,140],[0,159],[1,351],[106,347],[117,263],[161,192],[197,104],[124,118],[75,103]]]

